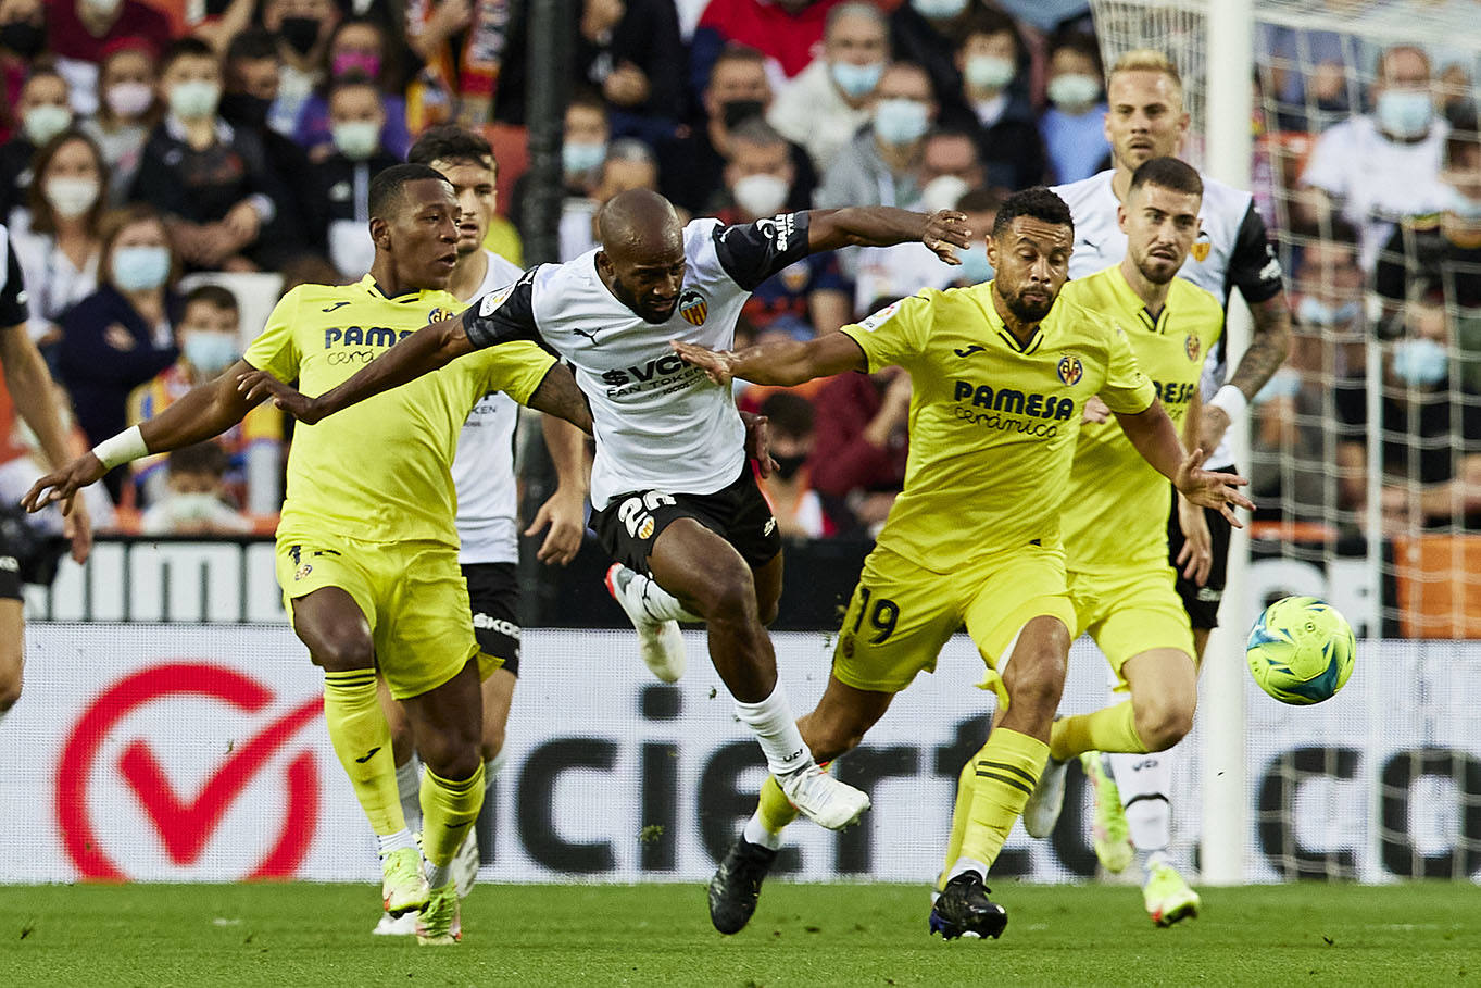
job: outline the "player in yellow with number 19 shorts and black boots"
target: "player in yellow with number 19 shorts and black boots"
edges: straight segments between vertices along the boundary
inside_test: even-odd
[[[846,370],[911,373],[911,453],[895,502],[844,613],[832,674],[798,721],[813,757],[856,747],[917,672],[932,671],[963,624],[986,664],[1003,717],[964,772],[961,853],[930,929],[998,936],[1003,908],[983,880],[1049,755],[1075,610],[1065,576],[1060,505],[1081,416],[1100,395],[1130,443],[1197,504],[1248,505],[1241,478],[1198,468],[1126,336],[1100,314],[1059,299],[1074,227],[1044,188],[1010,196],[988,238],[997,278],[923,290],[862,324],[803,342],[712,353],[675,344],[717,384],[732,376],[792,385]],[[769,779],[757,815],[709,886],[724,933],[755,909],[760,883],[794,812]]]

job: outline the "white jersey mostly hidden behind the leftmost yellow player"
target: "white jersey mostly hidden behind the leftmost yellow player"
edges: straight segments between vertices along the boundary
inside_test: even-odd
[[[524,271],[492,250],[478,286],[481,298],[514,284]],[[459,563],[518,563],[518,495],[514,486],[514,430],[520,406],[504,391],[490,391],[472,406],[453,456],[458,489]]]

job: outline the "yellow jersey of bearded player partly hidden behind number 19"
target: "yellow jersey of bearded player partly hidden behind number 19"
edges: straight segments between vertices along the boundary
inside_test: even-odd
[[[1152,318],[1120,265],[1075,278],[1060,298],[1102,314],[1126,333],[1180,433],[1204,358],[1223,332],[1219,299],[1192,281],[1173,278],[1167,304]],[[1086,425],[1065,501],[1069,569],[1166,564],[1170,498],[1171,484],[1142,459],[1115,419]]]

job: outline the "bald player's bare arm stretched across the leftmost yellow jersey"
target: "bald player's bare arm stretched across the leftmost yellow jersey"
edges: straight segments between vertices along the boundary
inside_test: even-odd
[[[240,382],[237,388],[252,404],[271,395],[280,409],[292,413],[301,422],[312,425],[335,412],[364,401],[373,394],[398,388],[407,381],[416,381],[425,373],[446,367],[455,358],[472,351],[474,345],[468,341],[468,333],[464,332],[462,317],[453,316],[452,318],[440,318],[435,323],[422,326],[367,363],[352,378],[324,391],[318,397],[311,398],[301,395],[298,391],[293,391],[290,395],[280,391],[274,387],[278,382],[273,375],[265,370],[253,372],[252,367],[238,375]],[[567,376],[570,375],[567,373]],[[235,376],[233,379],[235,381]],[[541,387],[544,388],[545,385]],[[575,381],[572,381],[572,387],[575,387]],[[295,398],[293,395],[298,397]],[[536,404],[533,407],[541,406]],[[560,412],[555,413],[560,415]]]

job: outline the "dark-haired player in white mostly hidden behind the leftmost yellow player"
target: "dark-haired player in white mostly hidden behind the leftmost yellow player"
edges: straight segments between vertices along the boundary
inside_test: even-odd
[[[461,207],[458,222],[458,264],[447,290],[464,302],[514,284],[524,271],[492,250],[483,241],[493,221],[498,198],[495,179],[498,163],[493,148],[481,136],[456,126],[438,126],[418,138],[407,154],[415,164],[429,164],[453,184]],[[518,404],[502,391],[486,394],[468,413],[458,437],[453,458],[453,486],[458,489],[458,563],[468,582],[472,604],[472,628],[478,647],[502,665],[483,681],[483,760],[484,785],[492,791],[504,766],[504,733],[509,720],[509,704],[520,674],[520,585],[515,567],[520,561],[518,493],[514,477],[514,433],[518,427]],[[548,526],[539,550],[544,563],[564,566],[581,550],[585,535],[586,504],[586,437],[563,419],[542,416],[541,427],[558,478],[555,493],[541,505],[533,523],[524,532],[535,535]],[[395,754],[395,784],[401,797],[401,812],[407,827],[421,830],[421,766],[415,757],[415,739],[400,704],[381,689],[381,707],[391,721],[391,742]],[[493,806],[484,798],[484,806]],[[477,828],[453,859],[458,893],[467,896],[478,875],[480,853]],[[416,912],[392,917],[381,914],[378,935],[412,935]]]

